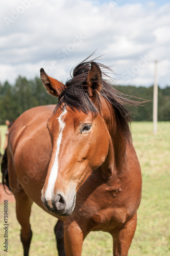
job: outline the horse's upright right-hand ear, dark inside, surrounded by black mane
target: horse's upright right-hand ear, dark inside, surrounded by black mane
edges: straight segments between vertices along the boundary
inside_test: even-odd
[[[91,62],[91,69],[87,75],[87,86],[90,98],[94,98],[102,90],[102,72],[95,62]]]

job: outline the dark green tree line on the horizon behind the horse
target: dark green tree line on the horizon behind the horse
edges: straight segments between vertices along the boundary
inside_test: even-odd
[[[142,106],[130,106],[132,120],[151,121],[153,111],[153,86],[149,88],[135,86],[114,86],[119,92],[132,97],[149,100]],[[5,120],[15,120],[20,114],[38,105],[57,104],[58,99],[46,93],[41,79],[28,80],[18,76],[15,84],[8,81],[0,83],[0,124]],[[170,87],[158,88],[158,120],[170,120]]]

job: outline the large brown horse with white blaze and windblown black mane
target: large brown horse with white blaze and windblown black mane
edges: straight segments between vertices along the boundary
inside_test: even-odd
[[[113,255],[128,255],[141,172],[124,105],[136,102],[118,93],[102,77],[102,68],[86,59],[65,86],[41,69],[47,92],[59,97],[56,108],[26,111],[11,127],[9,186],[25,256],[33,202],[59,219],[55,233],[60,256],[81,255],[83,240],[97,230],[112,235]]]

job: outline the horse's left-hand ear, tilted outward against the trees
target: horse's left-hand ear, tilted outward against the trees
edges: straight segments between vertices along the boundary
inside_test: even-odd
[[[40,77],[47,93],[58,97],[64,89],[64,84],[58,80],[48,76],[44,69],[40,69]]]

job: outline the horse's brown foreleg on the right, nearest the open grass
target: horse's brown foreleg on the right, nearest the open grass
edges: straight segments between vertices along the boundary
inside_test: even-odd
[[[111,233],[113,237],[113,256],[127,256],[132,239],[135,234],[137,215],[135,214],[126,225],[118,231]]]

